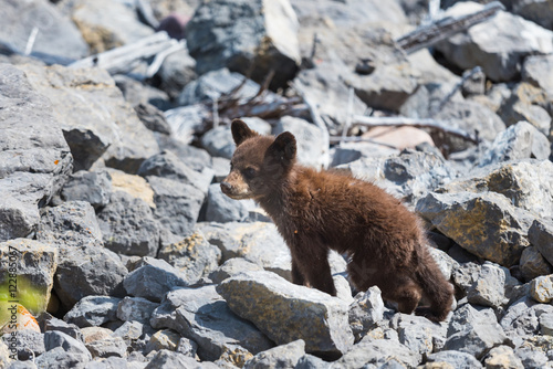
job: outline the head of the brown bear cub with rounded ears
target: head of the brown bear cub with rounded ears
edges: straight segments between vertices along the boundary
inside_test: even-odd
[[[295,164],[294,136],[289,131],[276,138],[262,136],[240,119],[232,120],[231,130],[237,149],[221,191],[236,200],[273,196]]]

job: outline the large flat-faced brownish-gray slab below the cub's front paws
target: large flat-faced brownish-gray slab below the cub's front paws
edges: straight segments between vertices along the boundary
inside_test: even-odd
[[[327,355],[343,354],[353,345],[344,302],[291,284],[274,273],[239,274],[219,284],[217,292],[236,314],[253,321],[276,344],[301,338],[306,351]]]

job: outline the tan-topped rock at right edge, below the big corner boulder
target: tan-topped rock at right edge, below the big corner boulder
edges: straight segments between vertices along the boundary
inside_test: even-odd
[[[549,99],[542,89],[528,83],[520,83],[512,89],[511,96],[502,102],[498,114],[508,126],[526,120],[542,134],[549,135],[551,128]]]

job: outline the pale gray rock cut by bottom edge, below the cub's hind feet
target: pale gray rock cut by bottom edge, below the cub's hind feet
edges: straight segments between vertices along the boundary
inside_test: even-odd
[[[334,361],[332,368],[361,368],[364,365],[374,365],[374,368],[378,368],[392,359],[407,368],[415,368],[421,358],[397,339],[374,339],[366,336],[342,358]]]

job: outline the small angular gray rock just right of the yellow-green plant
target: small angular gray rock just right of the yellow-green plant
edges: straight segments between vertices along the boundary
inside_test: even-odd
[[[117,305],[121,298],[109,296],[87,296],[65,314],[63,320],[77,327],[98,327],[117,320]]]

